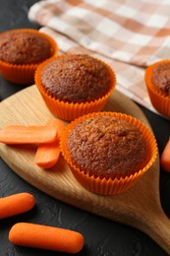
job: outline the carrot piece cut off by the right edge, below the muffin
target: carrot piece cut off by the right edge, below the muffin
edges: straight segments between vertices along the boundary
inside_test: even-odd
[[[170,172],[170,138],[162,152],[160,164],[164,170]]]

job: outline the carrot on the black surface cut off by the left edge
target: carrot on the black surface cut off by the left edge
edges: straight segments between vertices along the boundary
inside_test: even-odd
[[[19,193],[0,198],[0,219],[23,214],[33,208],[34,197],[29,193]]]

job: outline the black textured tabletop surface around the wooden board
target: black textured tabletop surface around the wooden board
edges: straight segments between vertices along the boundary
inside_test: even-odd
[[[16,28],[38,26],[28,22],[28,9],[34,0],[1,0],[0,32]],[[22,90],[0,77],[0,100]],[[170,123],[142,107],[157,139],[160,154],[168,140]],[[136,228],[110,222],[57,201],[30,186],[0,159],[0,197],[19,192],[35,196],[36,206],[26,214],[0,221],[0,256],[54,256],[68,255],[60,252],[18,247],[8,240],[13,224],[28,222],[47,224],[78,230],[85,235],[85,247],[79,256],[150,256],[167,255],[151,238]],[[170,174],[160,170],[160,196],[162,207],[170,217]]]

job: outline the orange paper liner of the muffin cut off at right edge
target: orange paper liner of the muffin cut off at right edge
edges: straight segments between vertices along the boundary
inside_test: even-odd
[[[152,84],[152,75],[154,68],[160,64],[167,62],[170,62],[170,60],[158,61],[148,66],[145,70],[144,80],[150,101],[154,108],[162,115],[170,118],[170,96],[163,95],[163,93]]]

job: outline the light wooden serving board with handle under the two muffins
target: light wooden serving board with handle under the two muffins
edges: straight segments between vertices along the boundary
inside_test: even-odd
[[[141,119],[149,127],[142,110],[128,97],[115,91],[106,111],[120,111]],[[35,86],[0,103],[0,128],[6,125],[44,125],[54,118]],[[67,124],[67,123],[66,123]],[[99,196],[83,188],[60,157],[55,166],[43,169],[33,162],[36,146],[0,144],[1,158],[31,185],[48,195],[90,213],[139,228],[170,254],[170,221],[159,199],[159,158],[142,178],[126,192]]]

